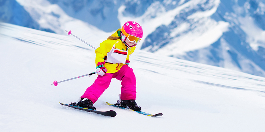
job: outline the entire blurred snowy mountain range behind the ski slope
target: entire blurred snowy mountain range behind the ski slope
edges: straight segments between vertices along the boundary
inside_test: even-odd
[[[137,48],[265,77],[263,0],[1,0],[1,21],[91,42],[125,21],[143,26]],[[105,38],[104,38],[105,37]]]

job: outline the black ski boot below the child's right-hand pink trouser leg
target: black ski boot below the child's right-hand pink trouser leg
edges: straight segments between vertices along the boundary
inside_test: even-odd
[[[117,101],[116,104],[114,104],[115,106],[120,106],[123,108],[130,108],[134,111],[141,111],[141,107],[137,105],[137,103],[135,102],[135,100],[130,99],[130,100],[121,100],[121,101]]]

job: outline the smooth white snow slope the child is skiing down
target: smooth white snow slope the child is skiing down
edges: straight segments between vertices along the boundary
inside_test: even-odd
[[[97,40],[94,39],[94,40]],[[95,42],[91,42],[95,43]],[[97,47],[97,45],[93,45]],[[120,81],[94,104],[116,117],[69,109],[97,77],[94,49],[73,36],[0,24],[0,131],[264,132],[265,78],[221,67],[135,51],[137,103],[158,118],[104,104],[115,103]]]

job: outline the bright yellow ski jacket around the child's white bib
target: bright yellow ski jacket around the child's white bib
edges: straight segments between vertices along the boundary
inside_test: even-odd
[[[115,33],[113,33],[111,36],[113,37],[119,37],[121,29],[118,29]],[[115,45],[115,46],[114,46]],[[130,59],[130,55],[134,52],[135,50],[135,46],[128,48],[124,43],[122,43],[122,41],[120,39],[118,40],[111,40],[111,39],[107,39],[105,41],[103,41],[102,43],[100,43],[100,47],[96,49],[96,67],[98,66],[98,62],[102,62],[104,67],[107,68],[107,73],[115,73],[117,71],[120,70],[120,68],[125,65],[123,63],[110,63],[110,62],[106,62],[107,60],[107,53],[109,53],[112,48],[115,49],[119,49],[122,51],[127,52],[127,57],[126,60],[129,61]],[[122,52],[121,52],[122,53]],[[104,64],[105,62],[105,64]],[[127,64],[128,65],[128,64]]]

